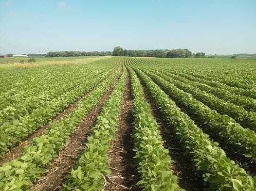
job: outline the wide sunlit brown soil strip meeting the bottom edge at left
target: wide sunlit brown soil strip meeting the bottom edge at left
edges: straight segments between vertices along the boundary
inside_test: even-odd
[[[97,115],[112,92],[116,82],[119,80],[121,72],[116,77],[114,82],[109,86],[101,100],[95,105],[93,110],[86,116],[84,121],[75,129],[71,136],[70,143],[68,143],[63,150],[60,151],[57,158],[55,158],[49,168],[47,174],[41,179],[37,180],[32,187],[34,191],[54,191],[60,188],[60,185],[69,171],[69,169],[76,162],[79,154],[84,150],[84,143],[91,133],[91,126],[95,123]]]

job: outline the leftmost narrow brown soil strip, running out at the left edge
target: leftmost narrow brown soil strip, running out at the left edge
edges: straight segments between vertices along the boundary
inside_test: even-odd
[[[5,153],[2,157],[0,157],[0,166],[5,162],[11,161],[13,159],[16,159],[18,156],[20,156],[22,154],[24,146],[28,145],[35,137],[38,137],[46,133],[46,129],[49,127],[50,125],[49,123],[51,121],[57,121],[57,120],[60,120],[62,117],[65,117],[70,111],[72,111],[76,107],[78,101],[83,100],[85,96],[90,94],[97,85],[101,84],[107,78],[102,79],[99,83],[94,85],[88,92],[86,92],[83,96],[81,96],[77,101],[73,102],[71,105],[65,108],[62,112],[58,113],[54,118],[52,118],[49,122],[47,122],[46,125],[40,127],[37,131],[29,135],[26,138],[26,140],[22,141],[17,146],[11,148],[7,153]]]

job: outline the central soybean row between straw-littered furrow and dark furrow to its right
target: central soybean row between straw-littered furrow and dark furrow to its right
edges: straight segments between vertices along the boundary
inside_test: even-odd
[[[162,144],[157,122],[146,102],[140,81],[133,70],[129,69],[129,73],[134,97],[134,151],[135,159],[138,161],[138,171],[141,174],[141,180],[137,184],[146,191],[182,190],[177,184],[177,176],[170,170],[171,158]]]

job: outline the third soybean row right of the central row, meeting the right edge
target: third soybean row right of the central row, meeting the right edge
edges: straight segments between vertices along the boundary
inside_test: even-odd
[[[200,90],[189,84],[189,80],[182,79],[182,81],[175,80],[164,69],[149,69],[159,77],[169,81],[179,89],[191,94],[194,98],[201,101],[211,109],[218,111],[221,114],[227,114],[235,119],[239,124],[245,128],[250,128],[256,131],[256,113],[253,111],[246,111],[243,107],[235,105],[231,102],[224,101],[212,94]]]

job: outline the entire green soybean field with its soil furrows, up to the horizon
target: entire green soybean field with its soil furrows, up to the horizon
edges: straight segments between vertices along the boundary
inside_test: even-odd
[[[1,58],[0,84],[0,190],[256,190],[256,58]]]

